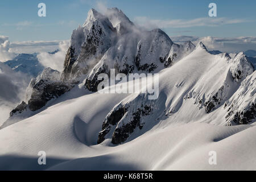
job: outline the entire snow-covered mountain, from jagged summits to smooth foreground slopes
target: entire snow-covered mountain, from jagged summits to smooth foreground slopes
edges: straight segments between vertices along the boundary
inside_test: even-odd
[[[256,73],[242,52],[176,44],[121,10],[92,9],[60,75],[46,68],[33,78],[0,126],[0,169],[255,169]],[[13,91],[5,83],[0,89]],[[252,125],[224,127],[244,124]],[[37,163],[42,150],[47,166]],[[217,166],[208,163],[212,150]]]

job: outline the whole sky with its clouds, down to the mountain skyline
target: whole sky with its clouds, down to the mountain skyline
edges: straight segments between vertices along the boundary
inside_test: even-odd
[[[46,17],[38,16],[41,2],[46,3]],[[208,15],[211,2],[217,5],[217,17]],[[68,40],[89,9],[106,7],[118,7],[139,26],[161,28],[176,43],[200,40],[209,49],[227,52],[256,49],[255,0],[1,0],[0,38],[9,39],[11,48],[24,46],[25,41],[33,47],[35,42],[40,46],[42,41]],[[53,49],[49,44],[56,47],[59,42],[43,46]]]

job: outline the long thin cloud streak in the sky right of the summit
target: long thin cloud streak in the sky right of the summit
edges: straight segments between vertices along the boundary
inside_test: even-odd
[[[187,27],[214,27],[221,26],[222,24],[235,24],[249,22],[245,19],[229,19],[229,18],[196,18],[196,19],[150,19],[146,16],[137,16],[134,18],[134,22],[139,26],[145,28],[187,28]]]

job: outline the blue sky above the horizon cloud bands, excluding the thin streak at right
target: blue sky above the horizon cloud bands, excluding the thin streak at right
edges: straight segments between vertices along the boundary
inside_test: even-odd
[[[38,3],[47,6],[47,16],[39,17]],[[217,4],[217,18],[209,18],[208,5]],[[99,6],[100,5],[100,6]],[[69,39],[72,30],[86,19],[88,10],[101,6],[118,7],[131,20],[139,23],[150,20],[182,21],[197,18],[209,20],[224,18],[217,26],[160,27],[170,36],[256,36],[256,1],[56,1],[56,0],[1,0],[0,1],[0,35],[9,36],[10,41],[24,40],[65,40]],[[140,20],[142,19],[142,20]],[[235,23],[225,23],[234,20]],[[144,21],[144,22],[143,22]],[[207,20],[204,20],[207,23]],[[238,22],[238,23],[236,23]],[[164,23],[164,22],[163,22]]]

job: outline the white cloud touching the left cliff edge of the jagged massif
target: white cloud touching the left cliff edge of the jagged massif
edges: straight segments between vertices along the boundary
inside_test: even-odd
[[[38,55],[39,62],[44,67],[50,67],[52,69],[56,69],[57,71],[63,71],[63,64],[65,55],[67,53],[69,47],[69,42],[63,41],[59,43],[59,52],[56,52],[55,54],[51,54],[48,52],[42,52]]]

